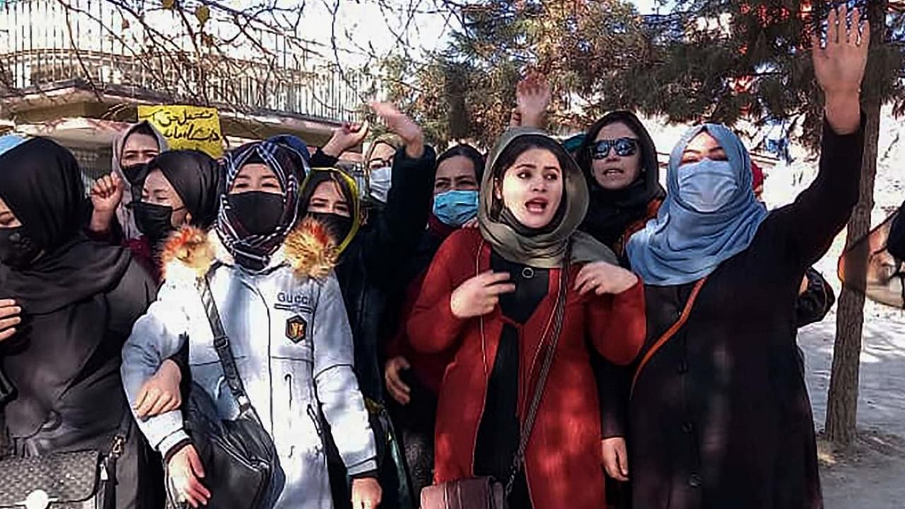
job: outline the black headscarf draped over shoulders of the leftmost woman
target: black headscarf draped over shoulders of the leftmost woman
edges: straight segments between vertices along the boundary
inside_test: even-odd
[[[43,249],[27,268],[10,268],[5,297],[25,312],[43,314],[112,290],[129,266],[120,247],[90,242],[81,233],[84,184],[69,150],[33,138],[0,156],[0,197],[24,233]]]

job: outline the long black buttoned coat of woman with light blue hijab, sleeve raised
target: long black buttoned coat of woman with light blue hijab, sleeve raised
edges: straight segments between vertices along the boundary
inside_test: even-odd
[[[862,132],[824,130],[820,174],[710,275],[688,322],[641,372],[629,408],[633,507],[823,506],[795,300],[858,201]],[[650,348],[693,283],[648,286]]]

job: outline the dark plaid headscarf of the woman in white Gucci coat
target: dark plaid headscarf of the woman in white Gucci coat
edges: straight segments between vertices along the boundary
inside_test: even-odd
[[[308,159],[300,156],[298,149],[288,148],[277,139],[248,143],[226,154],[216,229],[226,249],[247,268],[262,270],[270,264],[271,255],[280,248],[295,225],[300,184],[309,169]],[[262,162],[271,168],[282,187],[282,216],[276,229],[267,235],[252,235],[245,231],[227,199],[239,171],[245,164],[254,162]]]

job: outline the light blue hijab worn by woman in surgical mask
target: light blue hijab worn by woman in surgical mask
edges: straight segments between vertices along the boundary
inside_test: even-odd
[[[677,171],[688,143],[705,130],[726,151],[738,184],[729,203],[710,213],[682,203]],[[641,275],[645,284],[653,286],[691,283],[747,249],[757,227],[767,217],[767,207],[754,197],[751,180],[748,149],[732,130],[719,124],[703,124],[686,132],[672,149],[666,199],[657,218],[632,235],[626,246],[633,271]]]

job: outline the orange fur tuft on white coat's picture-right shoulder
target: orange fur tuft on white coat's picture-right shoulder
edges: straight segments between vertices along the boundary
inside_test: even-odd
[[[329,229],[311,217],[286,236],[283,250],[297,277],[323,279],[337,264],[338,249]]]

